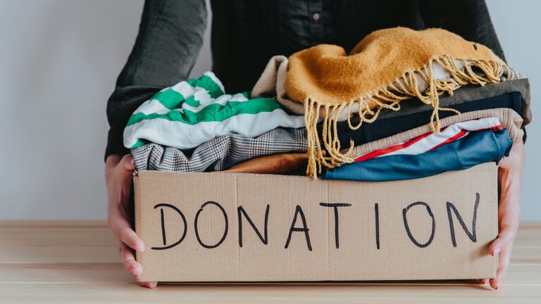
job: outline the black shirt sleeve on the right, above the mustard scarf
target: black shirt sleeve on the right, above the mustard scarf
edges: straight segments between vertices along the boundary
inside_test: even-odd
[[[423,0],[419,8],[425,27],[441,27],[483,44],[505,61],[484,0]]]

